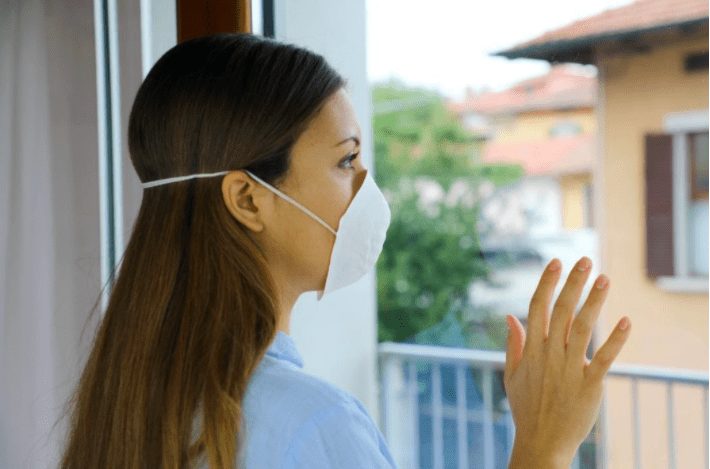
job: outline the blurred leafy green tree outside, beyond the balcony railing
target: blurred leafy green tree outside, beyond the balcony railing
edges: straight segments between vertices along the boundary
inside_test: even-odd
[[[522,172],[480,164],[481,137],[436,92],[393,81],[375,85],[372,97],[375,177],[392,209],[377,264],[378,338],[403,341],[449,312],[470,311],[469,286],[488,275],[476,225],[478,187]],[[442,196],[427,199],[426,187]]]

